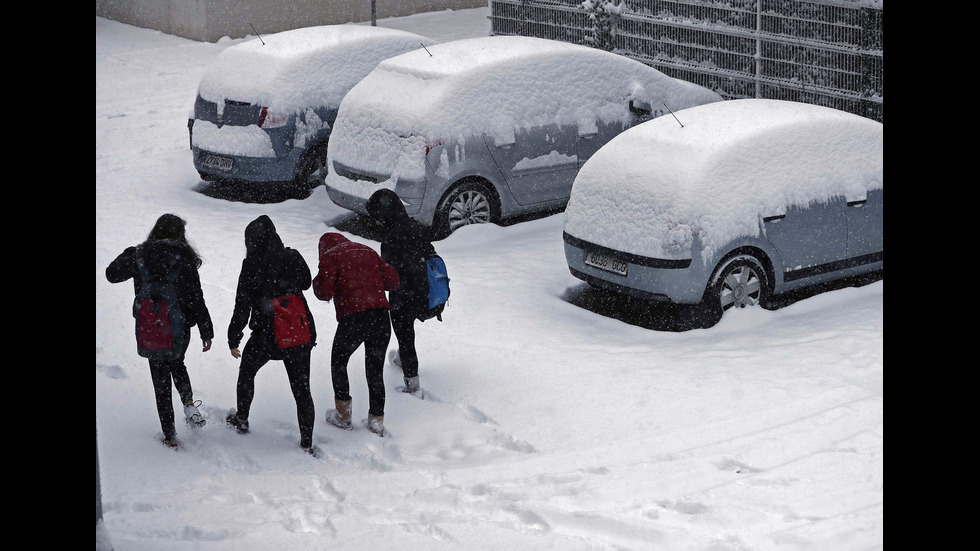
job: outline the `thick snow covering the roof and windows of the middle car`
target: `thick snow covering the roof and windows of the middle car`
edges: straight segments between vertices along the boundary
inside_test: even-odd
[[[344,98],[330,156],[420,178],[426,143],[472,135],[513,143],[516,131],[548,124],[587,131],[598,120],[626,121],[631,98],[666,101],[672,109],[721,100],[594,48],[520,36],[457,40],[379,63]]]

